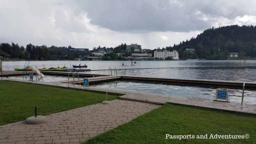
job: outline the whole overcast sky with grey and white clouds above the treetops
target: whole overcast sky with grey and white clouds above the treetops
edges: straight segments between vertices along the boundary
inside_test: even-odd
[[[212,27],[256,25],[255,6],[254,0],[0,0],[0,43],[154,49]]]

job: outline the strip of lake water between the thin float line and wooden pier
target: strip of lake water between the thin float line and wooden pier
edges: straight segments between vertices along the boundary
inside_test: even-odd
[[[256,68],[225,68],[225,67],[187,67],[187,68],[161,68],[161,69],[125,69],[117,70],[119,75],[161,77],[177,79],[209,79],[231,81],[256,81],[254,76]],[[108,74],[104,71],[91,71],[85,73]]]

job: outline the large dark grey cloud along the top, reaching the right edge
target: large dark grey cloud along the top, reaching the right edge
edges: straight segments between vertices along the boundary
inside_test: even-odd
[[[253,14],[241,0],[96,0],[75,1],[90,23],[118,32],[190,32],[213,26],[214,18]],[[253,8],[252,8],[253,9]],[[200,11],[202,15],[196,12]],[[202,19],[206,16],[209,19]]]

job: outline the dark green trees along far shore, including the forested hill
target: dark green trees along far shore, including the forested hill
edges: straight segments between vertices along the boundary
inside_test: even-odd
[[[56,47],[51,46],[49,48]],[[68,47],[71,47],[70,45]],[[22,59],[51,59],[51,55],[55,55],[54,51],[50,51],[46,45],[34,46],[31,43],[24,46],[19,46],[18,43],[1,43],[0,49],[9,53],[12,58]],[[67,47],[59,47],[67,48]],[[187,48],[195,49],[195,53],[190,54],[186,51]],[[24,52],[24,50],[27,52]],[[124,60],[123,57],[130,56],[133,51],[121,53],[126,49],[126,43],[121,43],[116,47],[94,47],[92,52],[105,51],[109,52],[102,57],[102,60]],[[191,37],[190,40],[182,41],[179,44],[173,46],[166,46],[163,48],[155,48],[152,50],[152,56],[154,51],[177,50],[179,58],[201,58],[209,60],[223,60],[229,56],[229,53],[236,52],[239,57],[256,57],[256,26],[224,26],[219,28],[210,28],[203,31],[197,37]],[[121,53],[117,56],[116,53]],[[57,55],[61,56],[61,59],[72,59],[77,56],[76,53],[64,57],[62,52],[58,52]]]

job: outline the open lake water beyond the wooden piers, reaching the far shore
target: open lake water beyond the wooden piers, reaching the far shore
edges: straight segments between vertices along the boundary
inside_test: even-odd
[[[128,65],[122,66],[122,62]],[[130,66],[131,61],[30,61],[29,65],[38,68],[43,66],[72,66],[88,65],[88,69],[104,71],[91,71],[85,73],[108,74],[109,67],[118,70],[121,75],[150,76],[163,78],[194,78],[209,80],[232,80],[232,81],[256,81],[256,61],[210,61],[210,60],[185,60],[185,61],[137,61],[135,66]],[[3,70],[14,70],[15,67],[23,68],[25,61],[3,61]],[[154,68],[154,69],[137,69]]]

